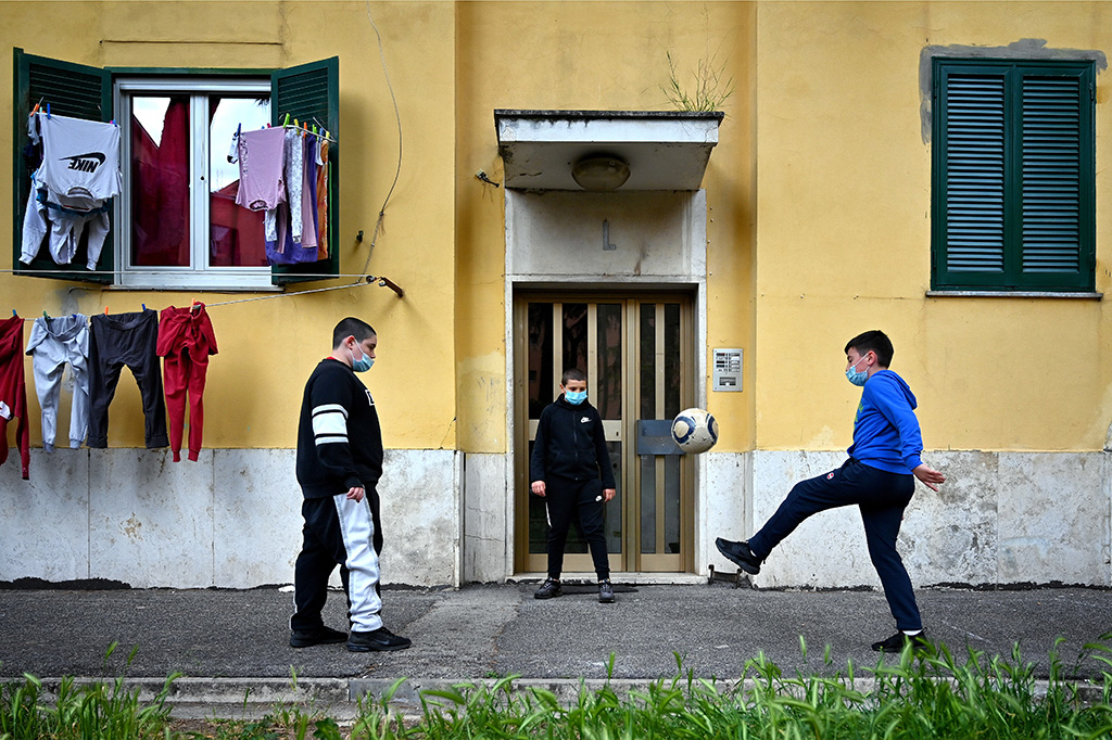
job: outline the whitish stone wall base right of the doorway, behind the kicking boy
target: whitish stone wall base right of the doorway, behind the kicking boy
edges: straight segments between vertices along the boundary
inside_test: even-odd
[[[753,519],[744,528],[725,526],[732,539],[761,527],[796,481],[824,474],[845,460],[842,452],[757,451],[752,457]],[[915,586],[1112,586],[1112,456],[925,457],[947,482],[939,492],[916,484],[904,514],[897,547]],[[716,496],[707,492],[708,498]],[[721,557],[712,562],[732,568]],[[880,588],[856,509],[805,521],[773,552],[754,582],[764,588]]]

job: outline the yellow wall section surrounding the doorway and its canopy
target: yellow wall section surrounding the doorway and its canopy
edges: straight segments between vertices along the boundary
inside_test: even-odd
[[[704,179],[709,347],[752,346],[752,3],[461,2],[457,30],[456,337],[461,449],[503,452],[506,430],[505,220],[493,111],[673,110],[666,53],[688,87],[699,60],[734,79]],[[688,88],[689,89],[689,88]],[[512,351],[512,348],[510,348]],[[709,367],[709,357],[707,359]],[[717,449],[752,448],[752,393],[712,393]]]

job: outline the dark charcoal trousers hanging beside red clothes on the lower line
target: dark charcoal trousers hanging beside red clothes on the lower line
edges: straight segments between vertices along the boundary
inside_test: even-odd
[[[89,447],[108,447],[108,406],[116,394],[120,370],[127,366],[139,384],[147,449],[167,447],[166,400],[158,367],[158,313],[151,309],[132,313],[92,317],[89,343]]]

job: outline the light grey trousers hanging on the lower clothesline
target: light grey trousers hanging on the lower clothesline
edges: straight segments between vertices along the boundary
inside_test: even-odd
[[[42,449],[54,451],[58,433],[58,397],[62,370],[69,362],[73,377],[69,440],[72,449],[85,441],[89,428],[89,319],[81,313],[36,319],[27,353],[32,357],[34,390],[42,408]]]

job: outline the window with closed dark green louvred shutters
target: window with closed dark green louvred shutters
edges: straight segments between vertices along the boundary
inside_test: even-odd
[[[934,290],[1091,291],[1093,68],[936,58]]]

